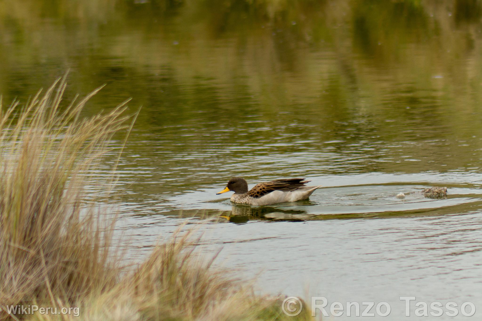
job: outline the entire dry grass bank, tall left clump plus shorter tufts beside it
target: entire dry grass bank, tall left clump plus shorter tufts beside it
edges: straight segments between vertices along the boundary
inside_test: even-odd
[[[133,122],[124,104],[83,117],[96,91],[63,106],[65,89],[59,79],[25,107],[0,108],[0,320],[284,319],[276,299],[254,295],[252,283],[194,258],[190,232],[126,265],[113,239],[117,218],[93,206],[99,198],[86,186],[99,182],[86,174],[103,164],[112,136]],[[114,182],[112,174],[105,194]],[[6,312],[34,304],[80,313]]]

